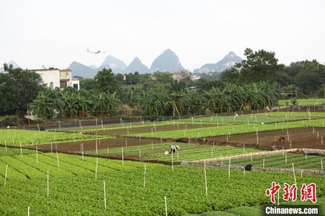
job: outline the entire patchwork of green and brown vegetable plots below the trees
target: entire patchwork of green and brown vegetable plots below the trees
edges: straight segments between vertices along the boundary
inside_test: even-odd
[[[282,147],[325,149],[321,142],[325,139],[325,115],[322,112],[309,112],[308,115],[307,120],[306,112],[295,111],[292,116],[287,111],[260,112],[212,116],[212,122],[209,116],[196,117],[193,121],[188,118],[155,123],[98,123],[97,127],[61,127],[40,132],[2,129],[0,143],[6,139],[8,146],[18,148],[0,147],[1,187],[8,164],[6,187],[0,191],[3,197],[0,214],[22,215],[29,206],[30,213],[35,215],[63,212],[163,215],[166,196],[169,215],[259,215],[259,206],[270,203],[265,189],[272,181],[293,184],[292,173],[254,170],[246,171],[244,176],[243,170],[231,170],[228,178],[228,169],[209,167],[206,168],[205,198],[204,168],[178,164]],[[277,142],[279,136],[285,137],[284,142]],[[51,141],[57,145],[52,146]],[[179,146],[179,151],[169,154],[170,145]],[[263,167],[264,160],[264,167],[292,168],[294,163],[295,168],[321,170],[323,158],[307,155],[306,159],[303,154],[287,153],[286,163],[285,156],[277,154],[234,159],[231,164]],[[324,202],[322,175],[304,174],[297,178],[298,186],[311,182],[317,184],[317,199]]]

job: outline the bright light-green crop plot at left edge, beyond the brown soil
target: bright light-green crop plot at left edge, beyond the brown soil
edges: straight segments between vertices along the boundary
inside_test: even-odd
[[[109,138],[109,136],[101,136]],[[50,142],[74,141],[93,139],[91,135],[63,132],[31,131],[24,129],[1,129],[0,144],[13,146],[45,144]]]

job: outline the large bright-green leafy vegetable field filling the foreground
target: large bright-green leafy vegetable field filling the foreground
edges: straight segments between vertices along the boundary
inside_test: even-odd
[[[243,176],[242,171],[232,170],[228,179],[228,170],[207,168],[208,198],[205,198],[201,167],[175,166],[171,170],[167,165],[147,163],[146,186],[143,187],[143,163],[98,158],[96,176],[96,158],[84,157],[83,160],[81,156],[66,154],[58,154],[58,158],[60,169],[54,153],[39,152],[38,163],[35,154],[0,156],[2,184],[8,164],[7,184],[0,191],[0,213],[22,215],[30,206],[30,213],[35,215],[63,212],[161,215],[165,212],[164,196],[168,214],[202,213],[269,203],[265,188],[270,187],[270,182],[294,183],[291,174],[254,171]],[[297,179],[298,185],[311,182],[317,184],[317,195],[323,196],[323,177],[304,175]]]

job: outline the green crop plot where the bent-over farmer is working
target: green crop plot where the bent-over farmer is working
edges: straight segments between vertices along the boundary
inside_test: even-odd
[[[202,144],[186,144],[186,143],[163,143],[153,145],[141,145],[141,146],[129,146],[123,148],[124,157],[136,157],[142,160],[160,160],[171,161],[171,154],[164,154],[165,151],[169,151],[170,145],[177,145],[180,147],[178,153],[173,154],[173,161],[191,161],[205,158],[232,156],[243,153],[258,152],[259,150],[246,148],[243,149],[231,147],[231,146],[213,146]],[[98,151],[101,155],[114,155],[122,156],[122,148],[102,149]],[[87,151],[89,154],[96,154],[96,151]]]

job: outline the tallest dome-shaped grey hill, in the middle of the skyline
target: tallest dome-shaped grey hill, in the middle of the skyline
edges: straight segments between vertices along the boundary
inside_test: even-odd
[[[175,72],[183,70],[184,67],[180,64],[177,55],[170,49],[165,50],[152,63],[150,70],[154,71],[169,71]]]

